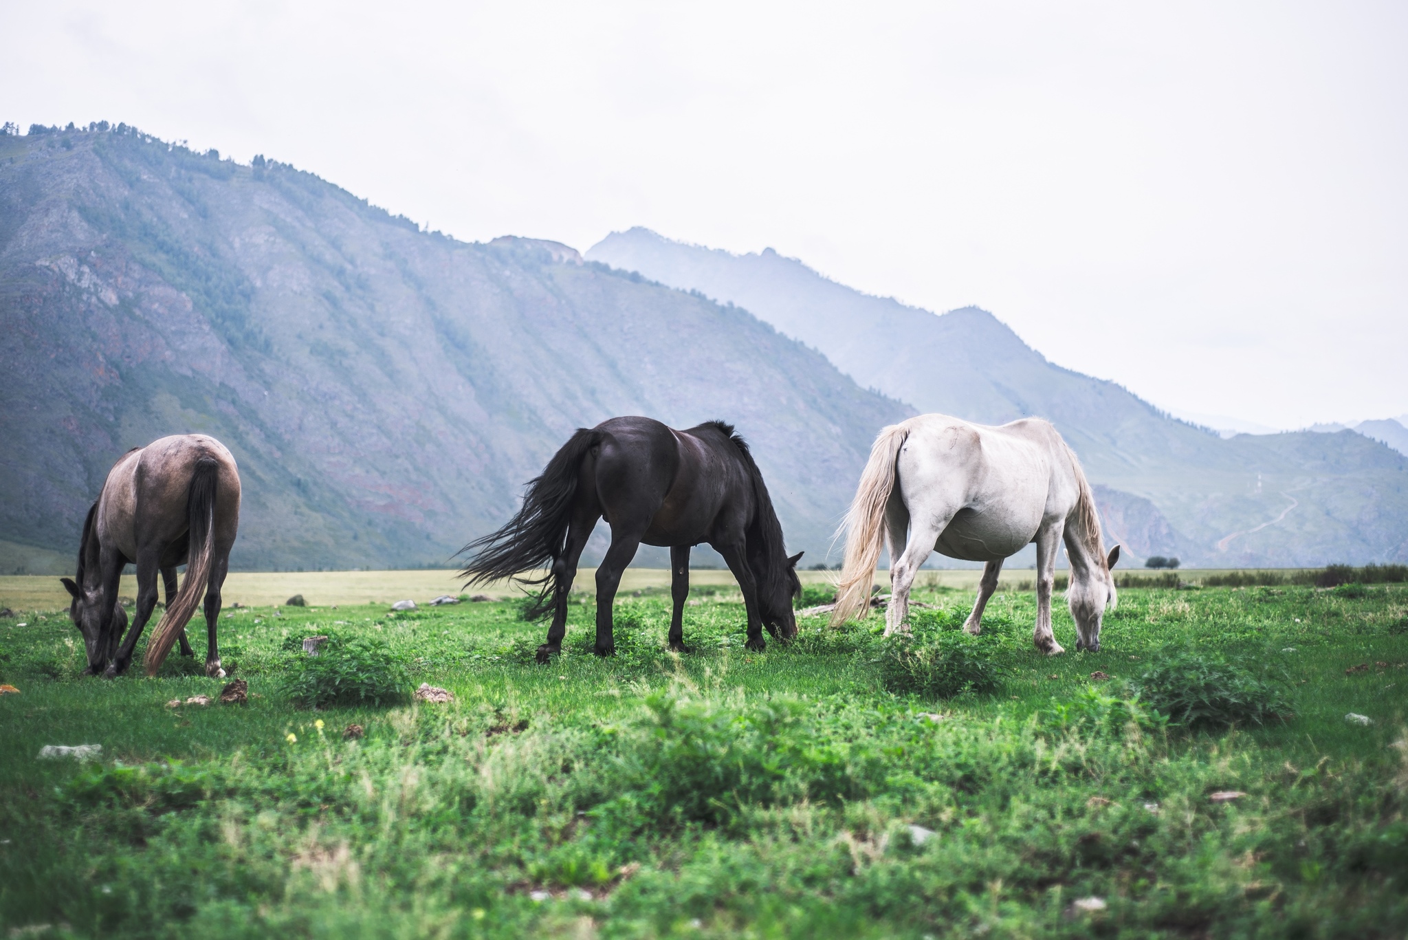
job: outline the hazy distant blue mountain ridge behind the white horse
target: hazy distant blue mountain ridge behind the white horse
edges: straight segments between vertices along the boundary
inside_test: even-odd
[[[1360,434],[1222,440],[1046,361],[986,310],[936,316],[770,248],[735,255],[632,228],[586,256],[736,303],[918,412],[987,424],[1050,419],[1101,485],[1111,534],[1136,557],[1218,567],[1408,559],[1404,455]]]

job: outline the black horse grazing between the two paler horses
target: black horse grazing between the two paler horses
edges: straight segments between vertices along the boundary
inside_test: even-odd
[[[722,421],[676,431],[648,417],[614,417],[579,428],[528,483],[518,513],[462,550],[477,552],[462,572],[467,585],[548,568],[541,578],[522,579],[543,585],[528,616],[552,610],[538,662],[562,650],[577,559],[603,516],[611,547],[597,568],[597,655],[615,653],[611,603],[641,543],[670,548],[672,650],[686,651],[690,547],[700,543],[724,555],[743,589],[749,650],[767,645],[765,626],[783,640],[797,636],[791,600],[801,592],[801,552],[788,558],[783,551],[781,526],[743,438]]]

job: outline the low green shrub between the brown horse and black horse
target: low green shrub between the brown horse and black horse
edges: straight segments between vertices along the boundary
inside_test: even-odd
[[[329,638],[315,657],[303,657],[284,692],[304,707],[386,705],[406,699],[410,675],[404,657],[380,640]]]

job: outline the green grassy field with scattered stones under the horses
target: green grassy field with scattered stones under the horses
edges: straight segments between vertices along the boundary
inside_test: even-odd
[[[66,616],[0,619],[0,682],[18,688],[0,695],[8,936],[1402,937],[1408,924],[1402,585],[1126,589],[1101,653],[1055,660],[1031,648],[1032,595],[1005,590],[986,619],[998,691],[936,700],[886,689],[874,619],[808,619],[788,647],[743,650],[724,572],[686,612],[694,653],[663,650],[659,572],[618,602],[617,657],[590,655],[591,609],[576,603],[548,667],[532,664],[542,626],[511,600],[355,603],[442,590],[444,572],[396,574],[244,575],[232,599],[256,606],[221,633],[249,684],[242,706],[166,707],[222,685],[175,655],[155,679],[83,678]],[[935,629],[972,603],[949,574],[976,576],[921,581],[938,610],[917,616]],[[284,592],[314,606],[256,603]],[[1074,647],[1063,609],[1056,633]],[[293,647],[311,634],[380,643],[408,686],[455,700],[297,707],[290,681],[308,660]],[[199,662],[199,617],[191,641]],[[1139,717],[1124,684],[1178,650],[1264,664],[1284,720],[1190,731]],[[365,737],[344,740],[351,724]],[[48,744],[103,753],[38,760]],[[1226,791],[1242,795],[1209,799]]]

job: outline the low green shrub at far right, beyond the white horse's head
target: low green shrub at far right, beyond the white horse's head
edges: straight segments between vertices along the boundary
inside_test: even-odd
[[[1274,661],[1250,662],[1221,653],[1173,650],[1160,653],[1129,692],[1170,724],[1222,729],[1267,724],[1288,717],[1286,678]]]

